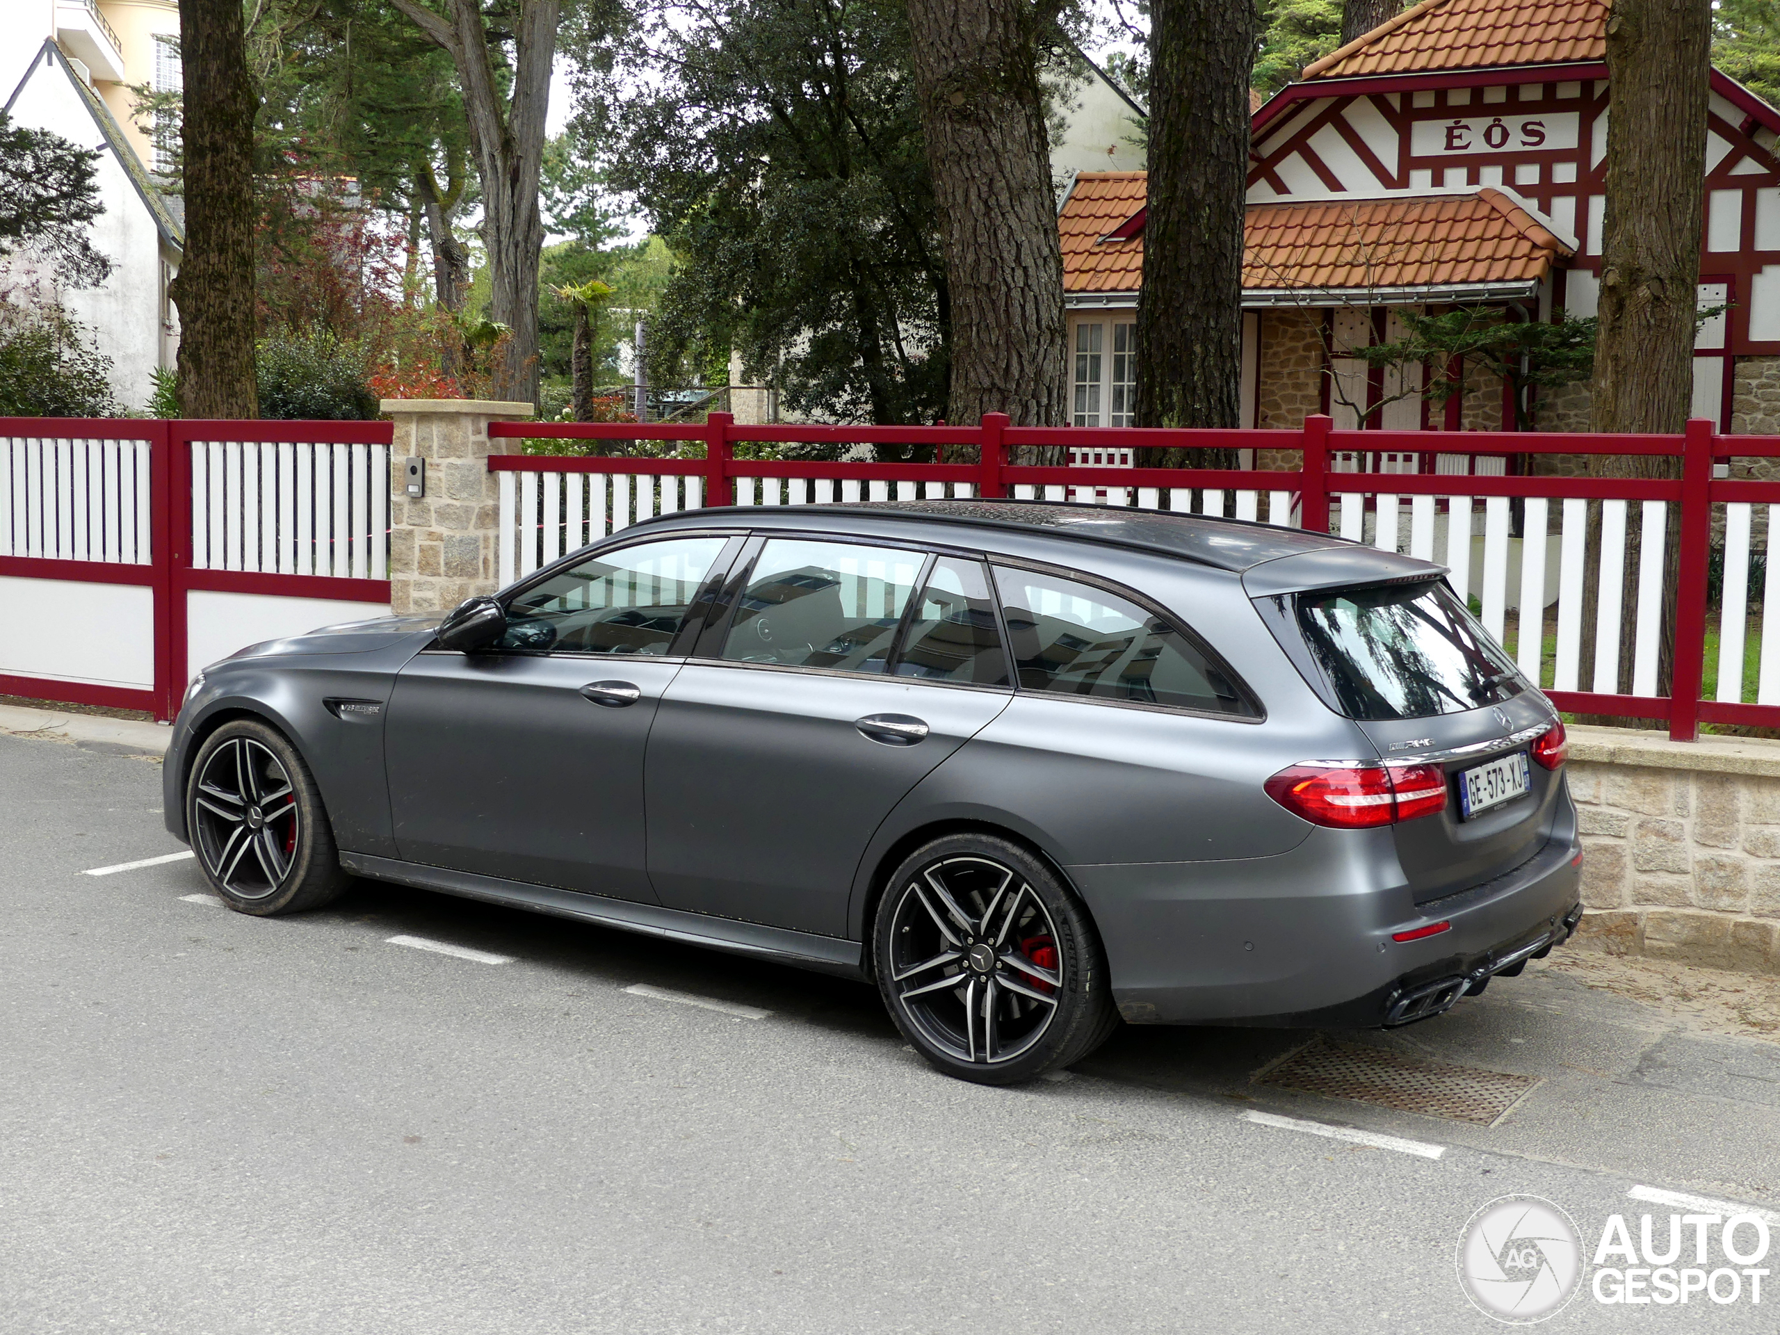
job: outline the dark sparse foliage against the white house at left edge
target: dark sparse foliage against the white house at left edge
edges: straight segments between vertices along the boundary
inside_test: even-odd
[[[87,237],[87,224],[105,212],[98,160],[100,150],[16,126],[0,110],[0,258],[25,251],[43,258],[64,287],[103,283],[110,260]]]

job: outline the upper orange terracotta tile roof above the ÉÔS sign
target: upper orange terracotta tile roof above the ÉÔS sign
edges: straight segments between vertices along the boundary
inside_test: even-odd
[[[1602,61],[1607,0],[1422,0],[1305,66],[1305,78]]]

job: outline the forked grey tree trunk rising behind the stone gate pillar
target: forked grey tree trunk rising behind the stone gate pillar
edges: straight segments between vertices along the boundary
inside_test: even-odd
[[[392,0],[457,66],[470,153],[482,182],[490,319],[511,335],[495,347],[491,393],[538,404],[538,262],[545,224],[538,212],[550,64],[555,59],[561,0],[518,0],[504,14],[511,32],[511,96],[497,78],[495,34],[482,25],[479,0],[450,0],[449,20],[415,0]]]

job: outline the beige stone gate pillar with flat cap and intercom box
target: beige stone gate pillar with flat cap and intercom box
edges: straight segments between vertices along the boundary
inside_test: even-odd
[[[490,454],[520,441],[488,438],[490,422],[525,422],[530,404],[490,399],[384,399],[390,447],[390,607],[443,612],[498,587],[500,488]],[[425,495],[408,495],[406,463],[425,461]]]

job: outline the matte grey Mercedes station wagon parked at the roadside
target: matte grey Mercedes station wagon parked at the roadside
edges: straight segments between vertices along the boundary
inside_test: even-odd
[[[1581,917],[1550,703],[1444,568],[1093,506],[705,509],[192,684],[242,913],[399,881],[870,979],[1002,1084],[1134,1024],[1397,1025]]]

